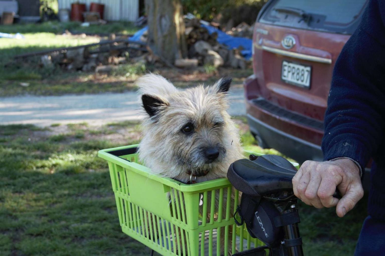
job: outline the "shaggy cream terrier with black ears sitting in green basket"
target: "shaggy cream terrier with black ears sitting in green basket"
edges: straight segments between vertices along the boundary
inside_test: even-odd
[[[231,81],[221,78],[213,86],[179,90],[160,75],[139,78],[137,86],[146,111],[139,160],[152,173],[186,184],[226,177],[230,164],[244,158],[239,131],[226,111]],[[218,200],[217,193],[216,207]],[[210,202],[208,195],[208,205]],[[223,237],[224,231],[222,251]],[[228,237],[231,240],[231,234]]]

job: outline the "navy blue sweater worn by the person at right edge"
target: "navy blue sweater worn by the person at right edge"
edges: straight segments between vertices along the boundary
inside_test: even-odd
[[[368,212],[385,220],[385,1],[371,0],[335,64],[325,115],[325,160],[345,156],[362,170],[373,158]]]

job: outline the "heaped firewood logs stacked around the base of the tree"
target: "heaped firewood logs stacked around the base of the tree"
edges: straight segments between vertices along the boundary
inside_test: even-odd
[[[166,64],[178,68],[210,65],[216,68],[224,66],[246,69],[251,62],[245,60],[241,55],[243,49],[229,49],[226,45],[218,43],[218,34],[215,32],[210,34],[206,28],[201,26],[201,23],[203,21],[197,18],[185,18],[187,58],[178,59],[175,63],[165,62],[146,47],[147,32],[142,35],[141,42],[132,42],[127,38],[115,38],[115,35],[111,34],[108,40],[101,40],[99,43],[17,55],[14,63],[31,65],[31,63],[37,62],[37,65],[44,68],[59,67],[68,71],[95,71],[97,73],[108,72],[114,69],[114,66],[128,61],[159,63],[159,65]],[[252,32],[251,26],[241,23],[226,33],[239,37],[251,37]]]

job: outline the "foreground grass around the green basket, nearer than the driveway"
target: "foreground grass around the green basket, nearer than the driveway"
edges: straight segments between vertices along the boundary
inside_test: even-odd
[[[244,146],[253,144],[236,118]],[[121,232],[103,148],[140,140],[135,122],[0,126],[0,255],[148,255]],[[364,198],[344,218],[300,203],[305,255],[352,255]]]

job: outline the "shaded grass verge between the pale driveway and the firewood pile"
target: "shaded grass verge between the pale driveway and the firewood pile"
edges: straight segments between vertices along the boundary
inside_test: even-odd
[[[121,65],[118,70],[109,75],[58,71],[48,78],[42,78],[36,73],[27,73],[26,79],[21,79],[20,74],[16,73],[8,75],[8,78],[13,76],[12,80],[0,81],[0,96],[122,93],[135,90],[135,80],[139,75],[148,71],[159,73],[169,78],[174,85],[182,88],[199,83],[212,84],[223,76],[232,76],[233,85],[241,85],[244,78],[253,73],[251,69],[236,70],[231,68],[219,68],[216,73],[206,73],[203,68],[176,71],[171,68],[156,69],[141,63]],[[36,79],[30,79],[30,76],[35,75],[37,76]],[[28,86],[22,86],[22,83],[28,83]]]

